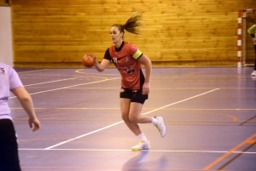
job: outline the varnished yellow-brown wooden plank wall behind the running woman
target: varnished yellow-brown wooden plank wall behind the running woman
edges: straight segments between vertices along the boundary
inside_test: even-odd
[[[236,66],[237,11],[255,0],[12,0],[16,67],[81,67],[102,60],[109,29],[143,14],[142,37],[125,32],[154,66]]]

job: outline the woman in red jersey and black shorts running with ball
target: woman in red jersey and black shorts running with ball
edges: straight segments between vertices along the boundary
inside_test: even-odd
[[[111,61],[118,69],[122,80],[120,88],[120,110],[122,118],[133,134],[137,135],[139,143],[131,147],[132,151],[150,148],[149,141],[139,128],[138,123],[152,123],[158,128],[162,137],[166,136],[166,125],[163,117],[140,115],[145,100],[150,91],[151,60],[143,54],[136,45],[124,41],[125,31],[139,35],[139,28],[143,26],[142,16],[136,12],[124,25],[113,24],[110,37],[113,42],[105,52],[101,63],[96,60],[97,71],[104,71]],[[96,57],[95,57],[96,58]],[[145,66],[143,74],[141,64]]]

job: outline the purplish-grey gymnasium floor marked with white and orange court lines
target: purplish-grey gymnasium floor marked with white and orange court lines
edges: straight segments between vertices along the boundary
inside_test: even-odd
[[[140,124],[151,149],[137,152],[120,117],[115,68],[16,71],[42,124],[32,133],[11,95],[23,171],[256,170],[253,68],[153,68],[142,115],[164,117],[168,133]]]

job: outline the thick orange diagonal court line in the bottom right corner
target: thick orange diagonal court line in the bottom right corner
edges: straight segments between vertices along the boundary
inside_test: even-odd
[[[253,140],[253,138],[256,137],[256,134],[253,134],[252,136],[250,136],[247,140],[242,141],[239,145],[236,145],[234,148],[232,148],[230,151],[226,152],[223,156],[218,157],[214,162],[210,163],[207,167],[203,168],[203,170],[209,170],[210,168],[212,168],[213,166],[215,166],[218,162],[221,162],[222,160],[224,160],[224,158],[230,156],[230,154],[234,151],[236,151],[237,149],[239,149],[242,145],[245,144],[253,144],[256,143],[256,140]]]

